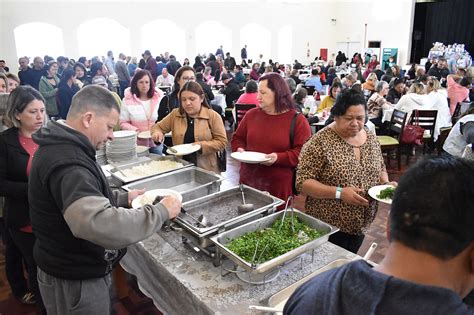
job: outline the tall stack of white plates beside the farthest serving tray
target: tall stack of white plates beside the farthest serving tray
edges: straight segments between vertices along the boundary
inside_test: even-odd
[[[137,133],[133,130],[114,132],[114,140],[105,146],[107,161],[116,163],[132,160],[137,157]]]

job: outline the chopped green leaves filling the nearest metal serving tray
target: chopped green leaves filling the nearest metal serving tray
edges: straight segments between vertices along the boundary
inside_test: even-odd
[[[281,230],[281,219],[277,219],[271,227],[244,234],[227,243],[226,247],[249,263],[261,264],[323,235],[302,223],[296,216],[293,220],[295,232],[291,229],[291,216],[287,216]],[[255,261],[252,261],[254,256]]]

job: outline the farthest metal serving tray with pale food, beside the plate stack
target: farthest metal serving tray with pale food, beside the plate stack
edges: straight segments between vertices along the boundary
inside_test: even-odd
[[[127,169],[131,169],[134,166],[139,166],[139,165],[143,165],[143,164],[150,164],[153,161],[173,161],[173,162],[179,162],[179,163],[183,164],[183,166],[177,167],[177,168],[172,169],[172,170],[167,170],[167,171],[164,171],[164,172],[156,172],[154,174],[150,174],[150,175],[147,175],[147,176],[140,176],[140,177],[133,177],[133,178],[123,176],[119,171],[117,171],[116,168],[111,169],[109,172],[110,172],[110,174],[112,175],[113,178],[117,179],[118,181],[122,182],[123,184],[127,184],[127,183],[131,183],[131,182],[136,182],[138,180],[142,180],[142,179],[145,179],[145,178],[149,178],[149,177],[152,177],[152,176],[173,172],[173,171],[176,171],[176,170],[179,170],[179,169],[182,169],[182,168],[185,168],[185,167],[190,167],[190,166],[193,165],[192,163],[190,163],[188,161],[185,161],[185,160],[182,160],[182,159],[180,159],[180,158],[178,158],[174,155],[162,156],[162,155],[157,155],[157,154],[150,154],[148,157],[146,157],[146,156],[139,157],[138,159],[133,160],[133,161],[127,161],[127,162],[122,162],[122,163],[114,163],[114,166],[117,166],[117,167],[120,168],[120,170],[124,171],[124,170],[127,170]]]

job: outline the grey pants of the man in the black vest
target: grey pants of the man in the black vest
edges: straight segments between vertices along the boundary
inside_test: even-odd
[[[89,280],[66,280],[38,268],[38,284],[48,315],[110,314],[110,282],[110,275]]]

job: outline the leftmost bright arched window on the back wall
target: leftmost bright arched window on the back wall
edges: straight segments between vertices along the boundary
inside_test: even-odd
[[[64,55],[63,31],[55,25],[27,23],[16,27],[13,33],[18,58],[44,55],[56,58]]]

